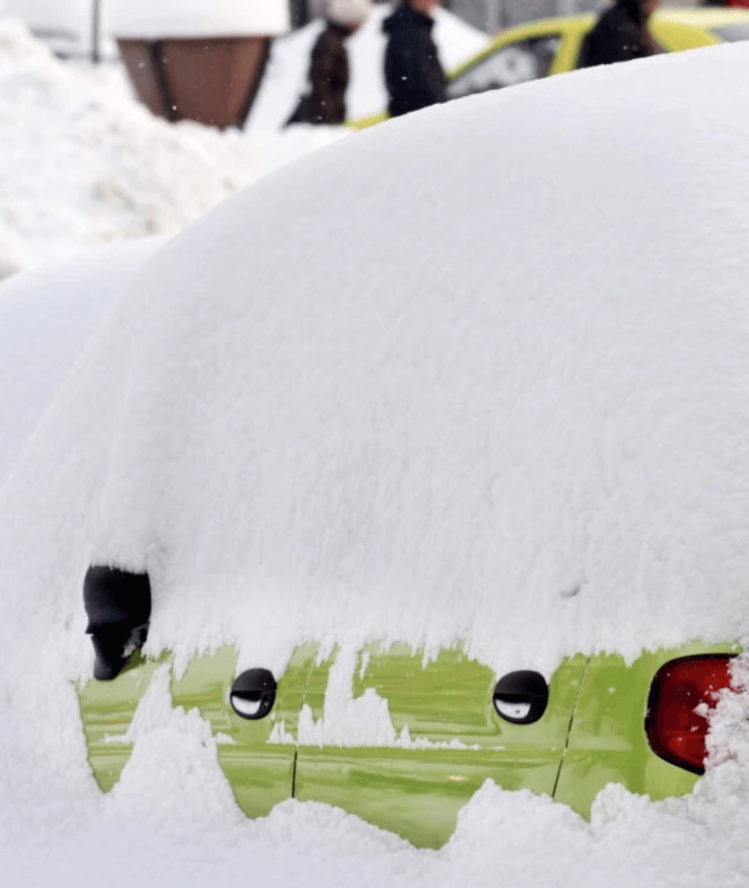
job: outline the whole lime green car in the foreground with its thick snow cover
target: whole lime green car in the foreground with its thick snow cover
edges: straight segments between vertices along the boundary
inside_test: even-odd
[[[75,680],[101,789],[180,707],[248,815],[414,844],[487,779],[693,788],[749,635],[747,62],[425,109],[151,258],[0,496],[63,664],[15,697]]]

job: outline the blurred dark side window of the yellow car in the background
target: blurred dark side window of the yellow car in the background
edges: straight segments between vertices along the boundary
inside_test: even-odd
[[[498,90],[502,86],[545,77],[554,61],[560,39],[558,35],[532,37],[502,46],[448,83],[448,99],[459,99],[474,92]]]

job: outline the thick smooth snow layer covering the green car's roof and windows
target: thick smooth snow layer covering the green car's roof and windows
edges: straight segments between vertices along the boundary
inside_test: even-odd
[[[384,124],[167,244],[0,497],[19,614],[83,671],[91,561],[183,661],[746,633],[749,51],[700,52]]]

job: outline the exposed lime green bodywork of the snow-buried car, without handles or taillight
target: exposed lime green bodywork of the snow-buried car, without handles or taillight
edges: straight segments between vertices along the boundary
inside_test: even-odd
[[[487,779],[554,797],[586,818],[608,783],[652,799],[690,792],[697,775],[650,748],[644,727],[650,685],[666,662],[737,650],[694,643],[643,653],[629,665],[618,654],[578,654],[549,679],[541,718],[511,724],[493,705],[498,677],[460,646],[430,661],[404,645],[368,646],[358,654],[349,703],[380,712],[388,730],[374,741],[366,728],[365,739],[356,731],[326,736],[322,719],[339,653],[322,658],[314,644],[296,649],[278,679],[271,714],[258,720],[240,718],[230,703],[237,673],[232,647],[196,657],[179,678],[168,654],[136,654],[113,681],[92,679],[78,694],[89,761],[105,792],[130,758],[138,703],[157,670],[170,670],[173,706],[197,709],[209,722],[218,764],[249,817],[296,797],[337,805],[415,845],[439,847]]]

